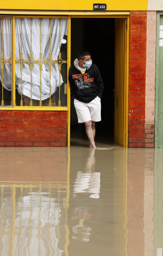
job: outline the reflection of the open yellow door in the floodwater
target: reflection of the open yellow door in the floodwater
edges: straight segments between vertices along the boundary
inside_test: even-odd
[[[118,220],[114,224],[115,226],[115,237],[117,237],[117,244],[115,248],[119,255],[128,256],[128,149],[117,148],[114,151],[114,186],[115,186],[115,199],[114,204],[114,217]],[[121,198],[121,200],[119,200]],[[119,217],[120,216],[120,217]],[[118,236],[120,238],[118,239]]]

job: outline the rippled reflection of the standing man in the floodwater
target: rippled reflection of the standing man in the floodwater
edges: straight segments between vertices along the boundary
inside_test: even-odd
[[[95,172],[95,149],[89,149],[84,172],[78,171],[76,181],[74,182],[74,197],[80,194],[90,193],[90,198],[98,199],[100,193],[100,172]],[[86,194],[87,195],[87,194]],[[86,197],[87,198],[87,197]],[[89,204],[88,204],[89,205]],[[71,220],[78,220],[78,224],[72,226],[74,232],[73,239],[82,242],[88,242],[91,228],[84,225],[84,221],[91,220],[94,214],[93,209],[87,206],[78,206],[73,209]],[[96,218],[97,219],[97,218]]]

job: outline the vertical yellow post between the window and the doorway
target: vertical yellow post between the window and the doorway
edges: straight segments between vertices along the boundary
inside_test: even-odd
[[[70,147],[70,85],[68,81],[68,71],[71,65],[71,16],[67,20],[67,107],[68,107],[68,120],[67,120],[67,146]]]

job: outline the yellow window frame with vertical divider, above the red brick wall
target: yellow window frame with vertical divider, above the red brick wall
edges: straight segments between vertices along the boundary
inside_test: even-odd
[[[1,15],[0,18],[11,18],[11,49],[12,49],[12,60],[11,60],[11,67],[12,67],[12,106],[0,106],[0,110],[49,110],[49,111],[67,111],[69,105],[69,98],[70,98],[70,90],[69,86],[67,86],[67,107],[50,107],[50,106],[16,106],[15,100],[15,18],[67,18],[67,83],[68,83],[68,70],[70,67],[70,59],[68,56],[70,49],[70,33],[68,31],[70,19],[68,16],[65,15]]]

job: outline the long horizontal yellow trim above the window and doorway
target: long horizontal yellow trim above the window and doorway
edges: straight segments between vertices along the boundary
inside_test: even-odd
[[[0,10],[9,15],[128,15],[129,11],[47,11],[47,10]]]

